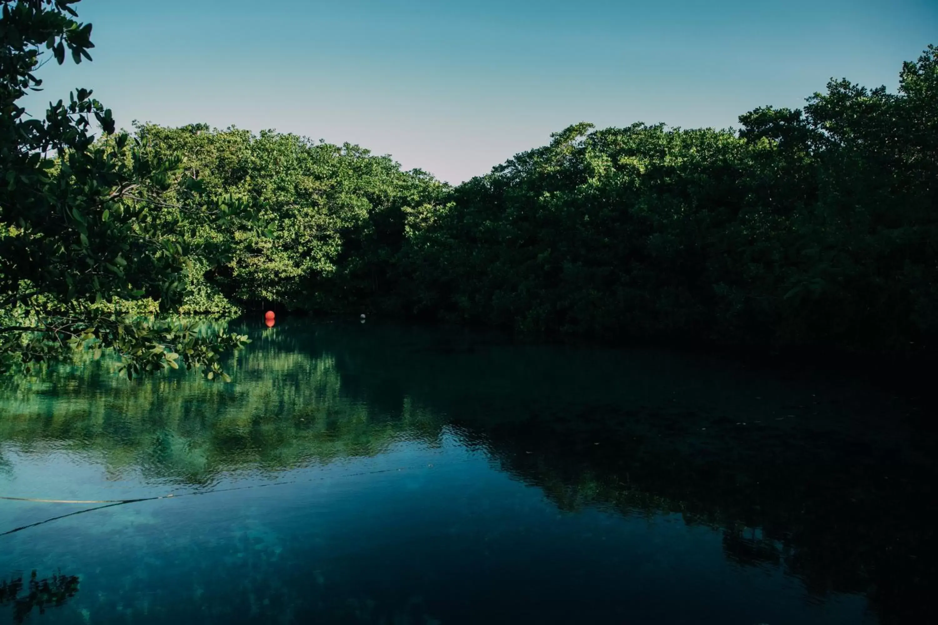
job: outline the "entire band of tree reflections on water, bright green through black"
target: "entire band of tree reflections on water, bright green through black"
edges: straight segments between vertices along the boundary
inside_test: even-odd
[[[131,387],[100,364],[8,385],[0,442],[204,489],[402,439],[438,446],[451,432],[561,511],[679,515],[719,530],[734,565],[780,568],[817,601],[862,593],[882,623],[915,622],[936,588],[934,438],[907,397],[446,329],[288,320],[250,331],[226,386],[170,375]],[[377,622],[369,601],[343,618]]]

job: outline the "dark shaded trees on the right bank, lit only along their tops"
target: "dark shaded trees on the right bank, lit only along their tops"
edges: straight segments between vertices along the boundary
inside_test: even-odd
[[[416,237],[461,320],[744,346],[916,349],[938,331],[938,50],[900,93],[830,82],[742,129],[570,126]]]

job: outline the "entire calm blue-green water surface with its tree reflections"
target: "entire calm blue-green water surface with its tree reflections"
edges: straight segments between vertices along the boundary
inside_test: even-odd
[[[0,623],[930,621],[935,447],[908,397],[452,330],[248,330],[227,385],[98,362],[0,390],[0,495],[174,495],[0,500],[0,579],[23,580]]]

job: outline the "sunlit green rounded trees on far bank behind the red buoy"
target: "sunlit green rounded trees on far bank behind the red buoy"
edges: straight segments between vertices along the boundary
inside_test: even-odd
[[[263,206],[265,237],[234,221],[200,231],[202,242],[231,250],[225,264],[192,276],[186,305],[193,312],[219,306],[219,293],[239,305],[308,311],[401,308],[396,260],[408,216],[433,212],[447,190],[430,174],[401,171],[388,156],[356,145],[274,132],[140,126],[137,136],[158,159],[184,155],[184,167],[207,191]]]

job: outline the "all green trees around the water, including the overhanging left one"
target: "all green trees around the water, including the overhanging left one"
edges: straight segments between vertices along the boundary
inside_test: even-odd
[[[113,349],[128,377],[229,379],[186,317],[260,301],[525,335],[933,360],[938,48],[895,94],[832,80],[740,128],[580,123],[459,186],[293,134],[135,125],[79,89],[77,3],[0,2],[0,369]],[[98,126],[102,130],[98,133]]]

